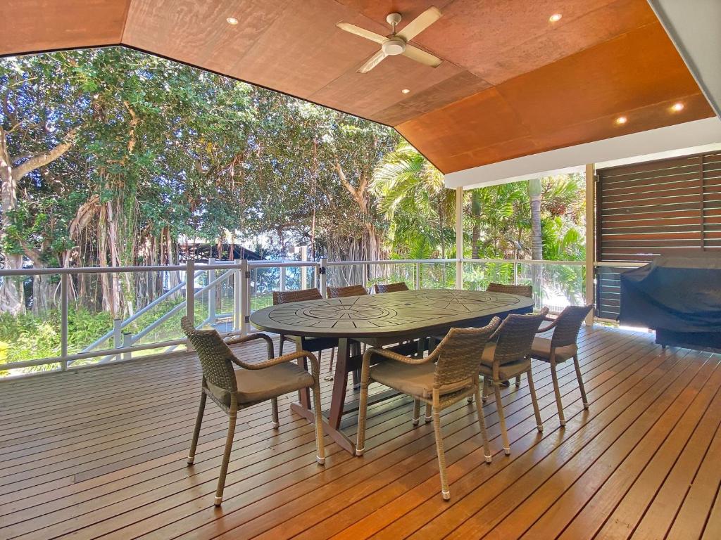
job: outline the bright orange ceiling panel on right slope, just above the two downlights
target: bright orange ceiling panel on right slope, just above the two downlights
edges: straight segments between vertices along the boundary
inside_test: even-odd
[[[658,22],[496,88],[533,132],[557,130],[698,91]]]

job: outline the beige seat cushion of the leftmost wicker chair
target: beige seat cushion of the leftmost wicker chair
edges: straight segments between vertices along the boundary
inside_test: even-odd
[[[309,372],[295,362],[283,362],[264,369],[236,369],[238,402],[242,404],[270,400],[271,397],[313,386]],[[221,402],[230,406],[230,392],[208,382],[208,390]]]

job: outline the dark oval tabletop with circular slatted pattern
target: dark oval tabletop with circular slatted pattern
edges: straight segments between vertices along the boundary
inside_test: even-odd
[[[533,305],[516,294],[420,289],[280,304],[250,320],[260,330],[291,336],[382,338],[470,326],[493,315],[529,312]]]

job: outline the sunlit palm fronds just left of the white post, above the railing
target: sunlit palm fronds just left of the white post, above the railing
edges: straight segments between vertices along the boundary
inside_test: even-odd
[[[443,173],[418,150],[407,141],[400,142],[373,171],[371,189],[379,197],[379,210],[391,223],[394,253],[446,257],[446,248],[454,243],[455,193],[446,189]]]

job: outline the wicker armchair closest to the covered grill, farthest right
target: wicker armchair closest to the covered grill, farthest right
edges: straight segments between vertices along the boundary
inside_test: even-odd
[[[556,405],[558,407],[558,420],[561,426],[566,425],[566,418],[563,415],[563,403],[561,401],[561,391],[558,387],[558,375],[556,374],[556,366],[566,360],[572,358],[573,366],[576,370],[576,379],[578,379],[578,390],[581,392],[581,400],[583,408],[588,409],[588,398],[583,388],[583,378],[581,377],[581,369],[578,365],[578,330],[580,330],[586,315],[593,310],[593,305],[586,306],[567,306],[555,319],[546,318],[552,321],[551,324],[544,328],[539,328],[538,333],[547,332],[553,329],[551,339],[534,338],[531,346],[531,357],[539,359],[551,364],[551,378],[553,379],[553,390],[556,394]]]

